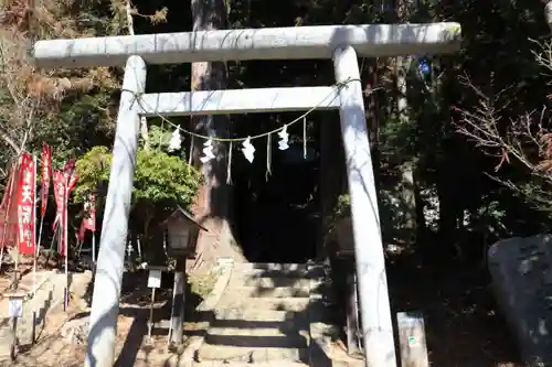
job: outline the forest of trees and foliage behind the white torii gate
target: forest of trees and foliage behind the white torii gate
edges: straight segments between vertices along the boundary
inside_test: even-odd
[[[463,25],[460,52],[360,61],[382,229],[385,244],[424,249],[439,261],[479,262],[499,238],[550,230],[552,48],[543,3],[538,0],[6,0],[0,11],[1,182],[6,183],[14,156],[22,151],[39,153],[44,142],[53,147],[54,166],[78,158],[72,230],[78,228],[86,194],[106,190],[121,69],[35,69],[26,56],[33,40],[437,21]],[[329,61],[263,61],[149,66],[147,88],[156,93],[331,84]],[[190,154],[190,137],[183,136],[182,149],[169,152],[170,136],[174,126],[181,126],[211,136],[246,137],[296,117],[148,119],[141,127],[130,233],[146,251],[149,246],[156,252],[148,245],[155,242],[150,228],[168,207],[180,204],[213,229],[213,236],[200,241],[205,263],[215,256],[254,259],[255,241],[244,235],[252,226],[243,225],[253,219],[236,213],[273,180],[265,177],[266,141],[254,142],[258,155],[253,164],[235,154],[234,183],[227,184],[227,144],[215,144],[217,159],[201,165],[201,143]],[[272,187],[280,185],[283,196],[301,192],[299,201],[316,204],[321,219],[311,236],[317,237],[316,250],[305,251],[305,257],[323,253],[328,228],[347,215],[337,121],[337,115],[329,112],[308,117],[307,144],[316,164],[302,166],[296,188],[283,184],[297,177],[295,169],[274,163],[280,173],[274,173]],[[300,129],[289,132],[291,143],[302,147]],[[189,155],[198,171],[188,165]],[[54,205],[50,208],[53,220]],[[99,208],[98,223],[100,213]]]

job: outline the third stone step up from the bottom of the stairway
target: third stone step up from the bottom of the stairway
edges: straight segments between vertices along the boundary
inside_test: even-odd
[[[237,322],[294,322],[300,325],[308,324],[307,312],[293,312],[293,311],[274,311],[274,310],[258,310],[258,309],[219,309],[215,310],[215,322],[226,322],[227,325]],[[231,326],[227,326],[231,327]],[[236,326],[232,326],[236,327]],[[268,326],[272,327],[272,326]]]

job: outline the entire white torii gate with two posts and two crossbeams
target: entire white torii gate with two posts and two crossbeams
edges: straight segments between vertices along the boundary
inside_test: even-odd
[[[88,367],[112,367],[141,116],[339,109],[365,364],[395,367],[380,217],[357,57],[454,53],[458,23],[299,26],[39,41],[39,67],[125,66],[91,313]],[[145,94],[146,64],[332,58],[338,87]],[[343,83],[347,82],[346,85]],[[335,98],[333,98],[335,97]],[[141,98],[136,102],[136,98]]]

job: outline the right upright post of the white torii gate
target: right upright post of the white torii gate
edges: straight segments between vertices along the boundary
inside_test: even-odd
[[[354,48],[336,50],[333,67],[337,82],[347,83],[339,93],[339,116],[351,199],[365,365],[396,367],[378,197]]]

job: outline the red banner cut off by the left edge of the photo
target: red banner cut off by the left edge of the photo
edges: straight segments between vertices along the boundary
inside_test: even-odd
[[[0,204],[0,248],[13,247],[18,241],[18,201],[19,169],[12,165]]]

